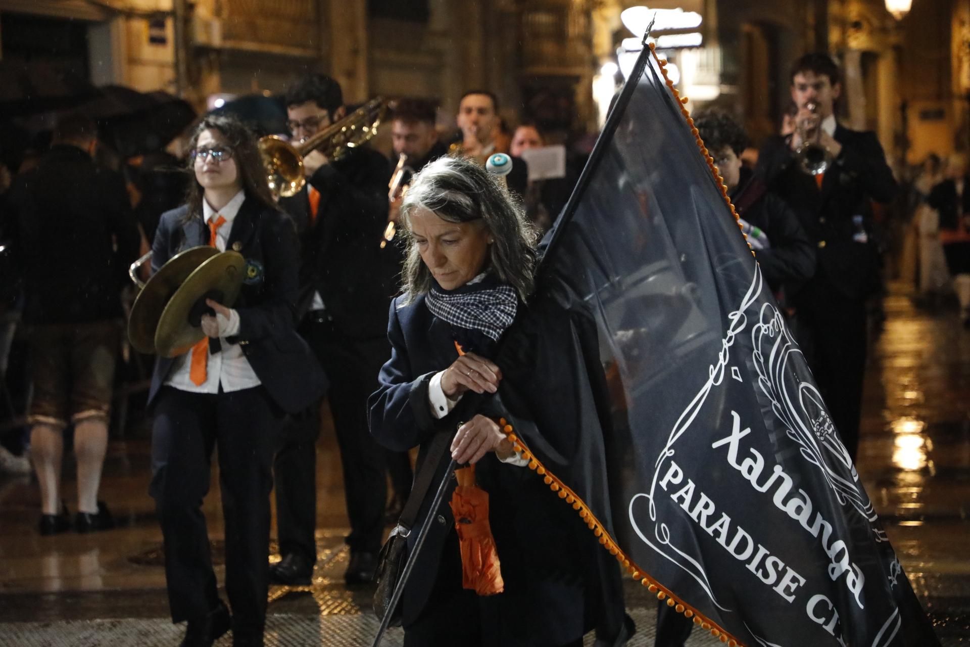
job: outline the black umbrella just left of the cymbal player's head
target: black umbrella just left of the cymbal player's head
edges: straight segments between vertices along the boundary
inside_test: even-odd
[[[164,148],[195,120],[192,106],[168,92],[139,92],[121,85],[100,88],[79,112],[98,122],[102,139],[122,157]]]

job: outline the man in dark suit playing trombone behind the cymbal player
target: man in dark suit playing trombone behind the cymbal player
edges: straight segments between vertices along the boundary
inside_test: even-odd
[[[312,74],[287,89],[295,141],[312,137],[347,110],[337,81]],[[347,584],[373,578],[384,532],[387,457],[367,431],[367,398],[389,347],[387,307],[397,290],[401,253],[381,246],[388,216],[387,158],[356,146],[337,160],[320,150],[304,157],[307,184],[280,200],[301,236],[300,334],[331,376],[330,411],[340,448],[350,534]],[[275,459],[278,584],[306,584],[316,561],[317,410],[287,425]]]

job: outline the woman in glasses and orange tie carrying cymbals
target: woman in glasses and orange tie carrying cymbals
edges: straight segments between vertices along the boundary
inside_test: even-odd
[[[240,252],[246,278],[234,307],[207,301],[214,316],[203,316],[206,340],[155,365],[150,493],[165,538],[172,618],[188,621],[181,645],[208,647],[230,627],[237,647],[262,645],[275,433],[284,412],[319,397],[323,375],[294,330],[296,232],[270,195],[255,138],[235,119],[207,116],[190,150],[195,181],[187,204],[161,216],[152,268],[209,244]],[[231,619],[216,593],[201,509],[213,447]]]

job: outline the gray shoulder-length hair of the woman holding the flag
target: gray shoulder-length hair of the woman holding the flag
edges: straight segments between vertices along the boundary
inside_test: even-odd
[[[472,161],[439,157],[416,176],[404,194],[401,220],[407,250],[402,272],[404,303],[427,294],[431,271],[410,231],[410,215],[429,210],[447,222],[481,220],[492,234],[488,269],[526,301],[533,293],[536,232],[503,183]]]

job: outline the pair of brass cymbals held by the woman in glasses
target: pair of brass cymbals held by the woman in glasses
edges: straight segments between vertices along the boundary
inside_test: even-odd
[[[148,279],[128,319],[128,339],[136,350],[176,357],[206,337],[199,310],[207,296],[218,295],[232,307],[239,297],[245,259],[237,251],[192,247],[179,252]]]

